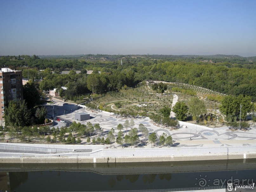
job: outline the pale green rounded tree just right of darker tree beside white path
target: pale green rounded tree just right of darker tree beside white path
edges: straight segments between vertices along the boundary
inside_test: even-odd
[[[207,112],[206,105],[198,97],[192,97],[191,100],[188,102],[188,107],[188,112],[196,118],[198,118],[199,115]]]

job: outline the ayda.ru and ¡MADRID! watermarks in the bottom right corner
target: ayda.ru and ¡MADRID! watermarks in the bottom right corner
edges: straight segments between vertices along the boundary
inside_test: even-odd
[[[212,186],[219,186],[220,188],[224,188],[224,186],[230,186],[230,188],[227,189],[255,189],[254,188],[254,181],[253,179],[235,179],[233,176],[229,179],[208,179],[207,175],[203,176],[200,175],[200,177],[195,178],[197,181],[195,183],[196,186],[198,186],[198,189],[205,189],[207,187]],[[228,185],[228,183],[232,183],[232,185]],[[232,187],[231,187],[232,186]],[[247,186],[247,188],[246,188]],[[231,190],[231,191],[232,191]]]

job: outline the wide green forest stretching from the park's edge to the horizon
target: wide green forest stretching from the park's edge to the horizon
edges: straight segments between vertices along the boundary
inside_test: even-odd
[[[122,65],[121,65],[122,60]],[[118,91],[144,80],[201,86],[224,94],[249,95],[256,101],[256,57],[238,55],[59,55],[1,56],[0,67],[43,78],[41,90],[67,86],[69,99]],[[40,70],[40,72],[39,72]],[[62,70],[70,70],[62,74]],[[75,70],[81,73],[76,74]],[[93,70],[87,74],[87,70]],[[98,73],[100,72],[100,73]],[[63,93],[64,94],[64,93]]]

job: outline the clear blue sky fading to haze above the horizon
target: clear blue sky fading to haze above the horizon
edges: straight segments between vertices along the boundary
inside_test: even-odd
[[[0,55],[256,56],[255,0],[0,0]]]

